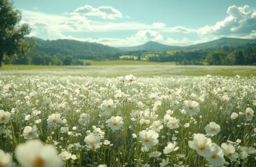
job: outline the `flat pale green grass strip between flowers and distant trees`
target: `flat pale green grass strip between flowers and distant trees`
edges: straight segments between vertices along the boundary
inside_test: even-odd
[[[118,77],[127,74],[146,77],[204,76],[207,74],[221,76],[236,76],[238,74],[244,77],[256,75],[256,66],[166,65],[152,62],[144,62],[144,65],[124,65],[124,63],[138,63],[137,61],[97,63],[97,65],[87,66],[4,65],[0,68],[0,74],[63,74],[62,72],[65,72],[69,75],[90,77]],[[119,63],[122,63],[122,65]]]

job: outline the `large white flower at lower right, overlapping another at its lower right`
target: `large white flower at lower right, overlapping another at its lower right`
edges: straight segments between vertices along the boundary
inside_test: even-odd
[[[211,157],[216,150],[211,138],[206,138],[204,134],[194,134],[193,141],[188,141],[188,145],[202,157]]]

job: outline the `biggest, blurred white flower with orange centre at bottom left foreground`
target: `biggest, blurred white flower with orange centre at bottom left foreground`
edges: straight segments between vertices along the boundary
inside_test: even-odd
[[[17,145],[15,157],[20,164],[26,167],[62,166],[62,159],[58,157],[55,147],[43,145],[39,140],[29,140],[27,143]]]

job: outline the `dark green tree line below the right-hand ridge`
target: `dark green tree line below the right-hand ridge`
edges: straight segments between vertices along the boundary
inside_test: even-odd
[[[256,65],[256,46],[250,44],[244,47],[172,51],[171,54],[168,54],[168,51],[132,53],[138,56],[137,60],[143,59],[147,54],[153,55],[148,56],[147,61],[174,61],[177,65]]]

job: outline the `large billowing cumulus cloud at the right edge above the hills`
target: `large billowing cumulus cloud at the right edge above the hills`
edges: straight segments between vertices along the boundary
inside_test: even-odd
[[[229,35],[244,38],[255,38],[256,10],[250,6],[230,6],[228,16],[213,26],[199,29],[200,35]]]

